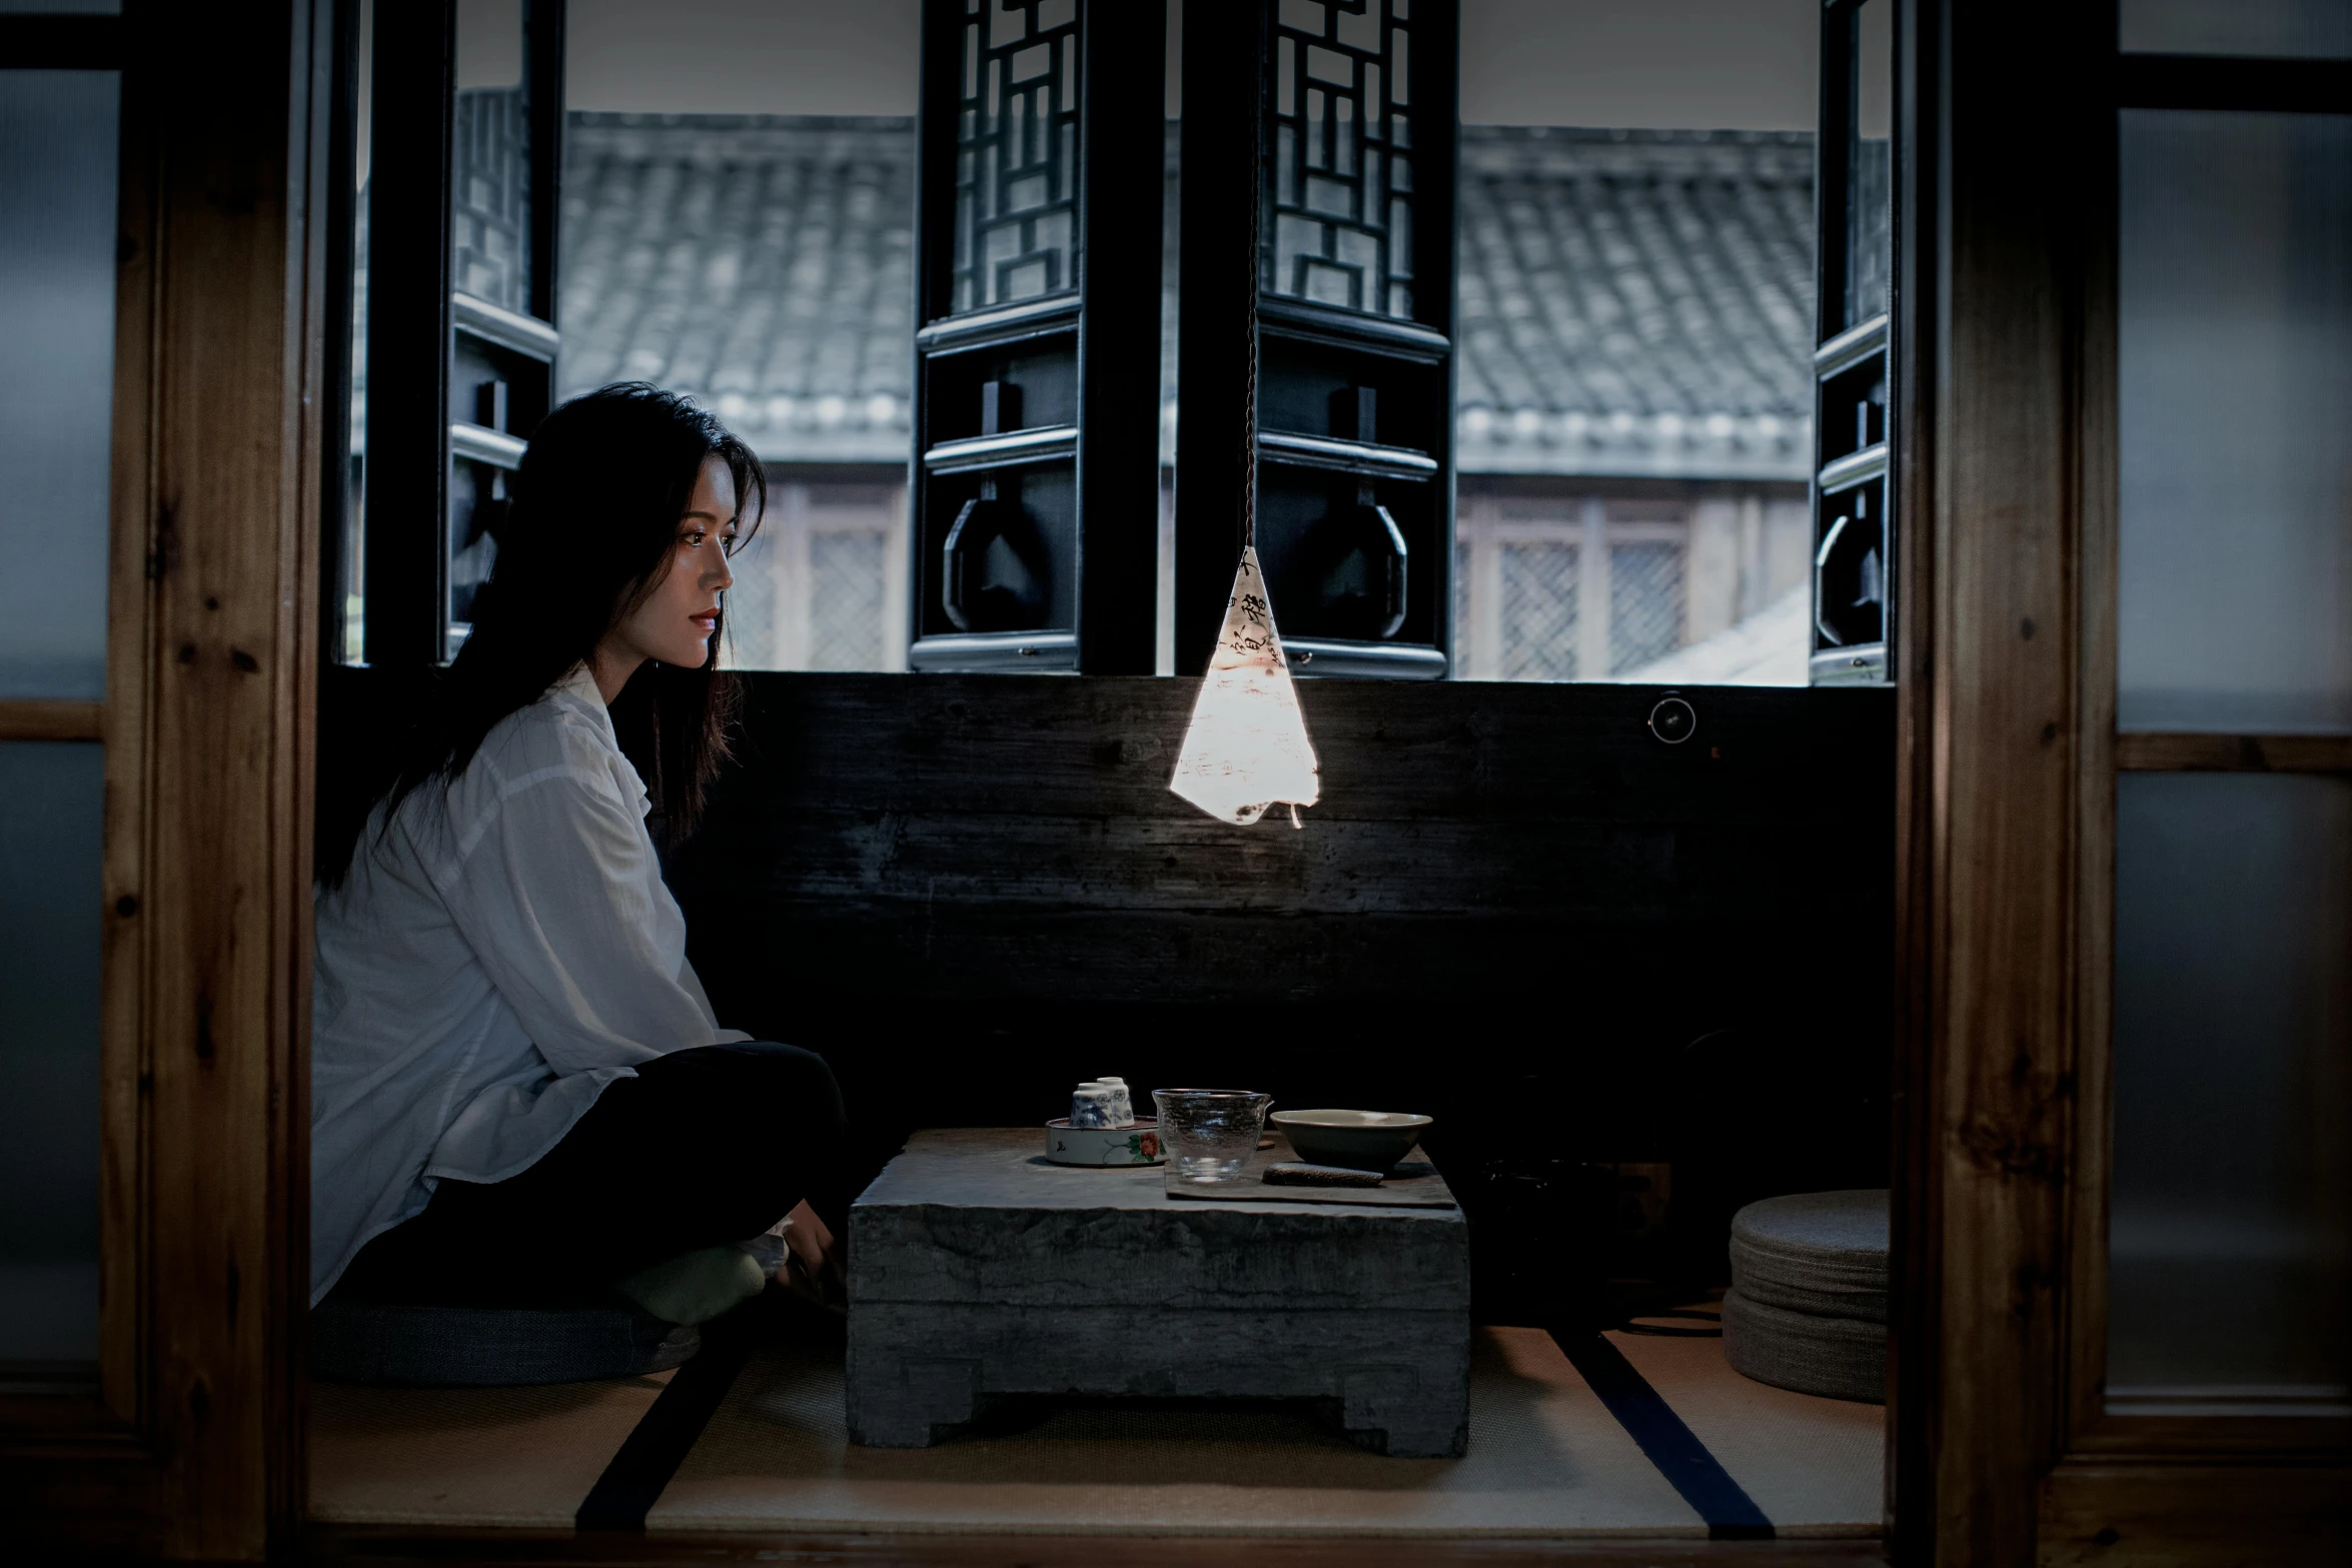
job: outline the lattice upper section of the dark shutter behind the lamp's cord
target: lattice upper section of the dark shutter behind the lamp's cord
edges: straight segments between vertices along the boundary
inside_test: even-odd
[[[1409,0],[1279,0],[1268,294],[1414,317]]]

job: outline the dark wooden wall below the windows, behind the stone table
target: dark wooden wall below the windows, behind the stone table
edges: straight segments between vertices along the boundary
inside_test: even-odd
[[[329,675],[360,776],[414,689]],[[1696,1272],[1740,1197],[1884,1182],[1891,691],[1691,691],[1670,748],[1646,686],[1305,682],[1291,830],[1167,792],[1190,679],[746,686],[670,882],[720,1018],[823,1051],[868,1157],[1101,1072],[1249,1084],[1430,1110],[1465,1185],[1672,1161]]]

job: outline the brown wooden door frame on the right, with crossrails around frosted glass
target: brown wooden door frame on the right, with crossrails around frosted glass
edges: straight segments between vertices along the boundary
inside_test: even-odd
[[[2114,771],[2265,752],[2114,733],[2114,40],[2112,5],[1898,28],[1903,1563],[2347,1540],[2340,1432],[2105,1413]]]

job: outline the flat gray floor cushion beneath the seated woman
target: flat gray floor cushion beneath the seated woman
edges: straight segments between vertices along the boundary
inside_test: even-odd
[[[310,1309],[310,1373],[329,1382],[503,1387],[677,1366],[701,1331],[628,1307],[416,1307],[329,1295]]]

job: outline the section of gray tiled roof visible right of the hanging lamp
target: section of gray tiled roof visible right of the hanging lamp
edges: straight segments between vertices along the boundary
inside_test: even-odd
[[[1806,477],[1813,139],[1463,127],[1465,473]]]

